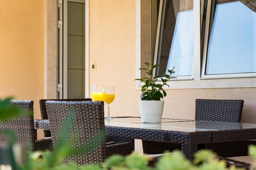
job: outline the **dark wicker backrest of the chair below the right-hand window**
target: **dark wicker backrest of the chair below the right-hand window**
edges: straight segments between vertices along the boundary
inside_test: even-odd
[[[196,99],[196,120],[240,122],[244,100]]]

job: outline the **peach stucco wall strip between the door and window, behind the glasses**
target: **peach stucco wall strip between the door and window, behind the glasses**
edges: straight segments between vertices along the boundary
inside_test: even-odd
[[[135,90],[135,1],[90,1],[90,71],[92,84],[115,87],[110,115],[137,115]],[[105,109],[107,114],[107,109]]]

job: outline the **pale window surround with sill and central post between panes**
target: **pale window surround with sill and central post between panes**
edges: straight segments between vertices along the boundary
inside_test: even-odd
[[[210,1],[211,2],[211,1]],[[233,77],[226,77],[225,75],[218,75],[218,77],[214,78],[213,76],[202,76],[204,72],[204,63],[201,60],[201,44],[202,44],[202,36],[201,30],[203,30],[203,15],[209,15],[209,10],[206,10],[209,1],[194,1],[193,9],[194,9],[194,58],[193,58],[193,66],[192,66],[192,74],[190,79],[172,79],[167,82],[169,87],[165,86],[165,89],[211,89],[211,88],[253,88],[256,87],[256,74],[250,75],[251,73],[247,73],[247,75],[243,74],[236,75]],[[140,78],[140,70],[141,67],[141,16],[140,16],[140,0],[136,1],[136,78]],[[208,13],[206,11],[208,11]],[[206,26],[206,25],[205,25]],[[206,41],[207,42],[207,41]],[[205,48],[204,45],[202,45]],[[205,51],[205,50],[204,50]],[[140,90],[141,82],[135,81],[135,87],[137,90]]]

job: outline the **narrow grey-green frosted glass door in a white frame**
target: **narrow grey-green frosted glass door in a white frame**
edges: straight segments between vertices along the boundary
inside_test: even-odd
[[[66,13],[66,14],[65,14]],[[64,3],[63,98],[85,97],[85,4]],[[66,21],[66,22],[65,22]],[[65,86],[66,85],[66,86]]]

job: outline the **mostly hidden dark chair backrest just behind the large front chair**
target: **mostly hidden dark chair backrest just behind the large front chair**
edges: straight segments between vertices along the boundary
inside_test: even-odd
[[[56,100],[56,101],[92,101],[91,98],[79,98],[79,99],[41,99],[39,100],[40,113],[42,119],[48,119],[45,101],[47,100]],[[44,130],[44,137],[51,137],[51,132]]]

